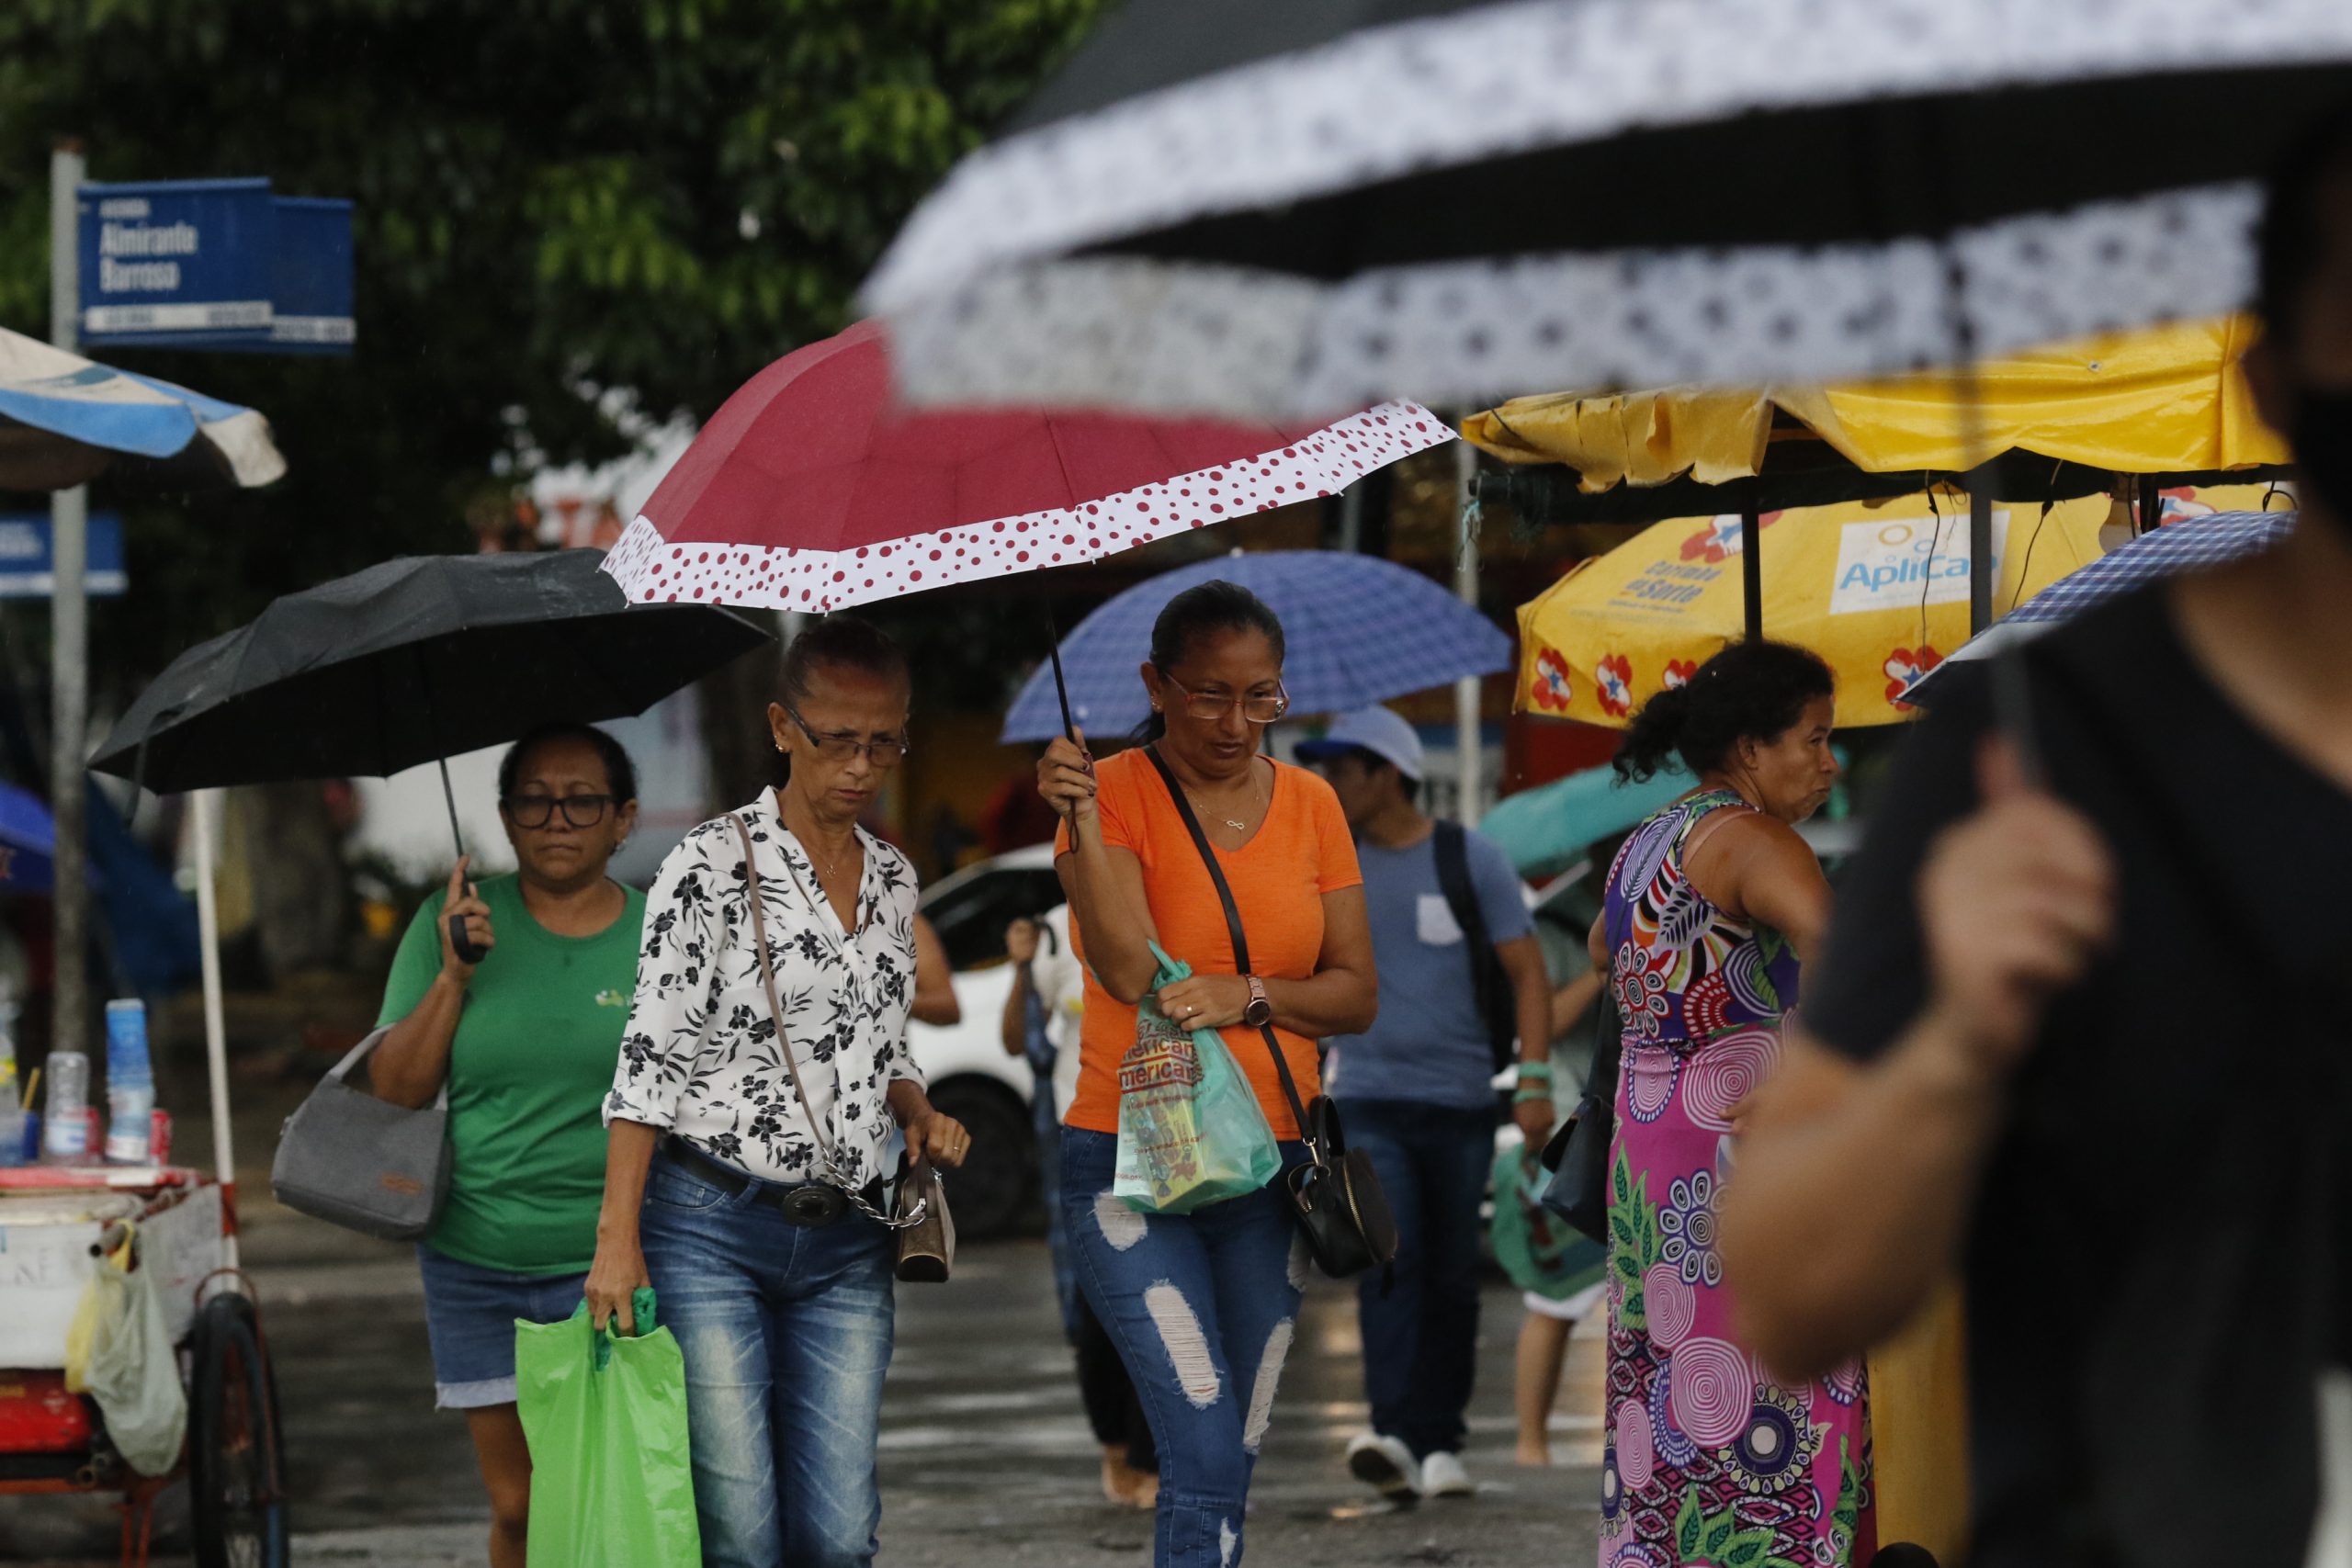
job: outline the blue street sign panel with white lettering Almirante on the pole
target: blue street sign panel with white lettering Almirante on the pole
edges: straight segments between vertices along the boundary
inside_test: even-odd
[[[268,343],[266,179],[82,186],[78,207],[85,343]]]

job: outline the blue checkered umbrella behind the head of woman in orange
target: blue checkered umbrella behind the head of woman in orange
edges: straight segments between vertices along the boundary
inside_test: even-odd
[[[1178,592],[1216,578],[1240,583],[1282,618],[1282,684],[1294,712],[1367,708],[1510,668],[1510,637],[1409,567],[1336,550],[1235,552],[1136,583],[1063,639],[1070,717],[1082,729],[1112,736],[1143,722],[1150,703],[1136,665],[1150,654],[1152,621]],[[1040,668],[1004,715],[1004,741],[1058,733],[1054,672]]]

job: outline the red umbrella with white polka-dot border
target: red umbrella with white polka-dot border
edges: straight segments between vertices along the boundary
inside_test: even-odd
[[[901,409],[861,322],[746,381],[604,571],[637,602],[833,611],[1331,496],[1446,440],[1411,402],[1319,428]]]

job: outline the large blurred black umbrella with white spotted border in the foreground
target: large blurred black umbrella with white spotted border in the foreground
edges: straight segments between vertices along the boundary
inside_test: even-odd
[[[1129,0],[866,287],[910,393],[1315,411],[2209,315],[2343,0]]]

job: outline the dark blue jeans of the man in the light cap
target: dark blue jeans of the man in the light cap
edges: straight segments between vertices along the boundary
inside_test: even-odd
[[[1461,1453],[1477,1378],[1479,1220],[1494,1173],[1494,1112],[1411,1100],[1341,1100],[1348,1147],[1364,1150],[1397,1213],[1397,1276],[1357,1281],[1371,1429],[1416,1460]]]

